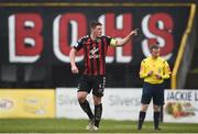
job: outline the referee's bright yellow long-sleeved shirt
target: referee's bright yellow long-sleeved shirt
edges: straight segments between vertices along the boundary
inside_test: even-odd
[[[148,76],[147,74],[153,70],[153,75]],[[162,76],[162,79],[156,78],[156,74]],[[148,83],[162,83],[164,79],[168,79],[170,75],[169,65],[166,60],[161,57],[156,59],[147,57],[142,60],[140,77]]]

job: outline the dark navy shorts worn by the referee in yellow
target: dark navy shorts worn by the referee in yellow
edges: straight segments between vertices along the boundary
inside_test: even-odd
[[[150,104],[151,99],[153,99],[153,104],[163,105],[164,104],[164,85],[163,83],[147,83],[144,82],[141,103]]]

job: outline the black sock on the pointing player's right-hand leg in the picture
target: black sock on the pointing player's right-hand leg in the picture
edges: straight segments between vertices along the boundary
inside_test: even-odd
[[[102,104],[95,105],[95,126],[99,127],[102,114]]]

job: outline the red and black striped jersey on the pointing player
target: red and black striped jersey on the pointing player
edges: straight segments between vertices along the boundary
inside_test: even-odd
[[[74,48],[84,49],[85,75],[106,75],[106,55],[112,37],[101,36],[92,40],[90,35],[77,41]]]

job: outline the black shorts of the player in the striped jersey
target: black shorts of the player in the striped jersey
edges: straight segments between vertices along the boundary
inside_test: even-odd
[[[90,93],[90,91],[92,90],[92,94],[95,94],[97,97],[102,97],[105,87],[106,87],[106,77],[105,76],[82,75],[80,77],[80,80],[78,83],[78,92],[86,91],[86,92]]]

